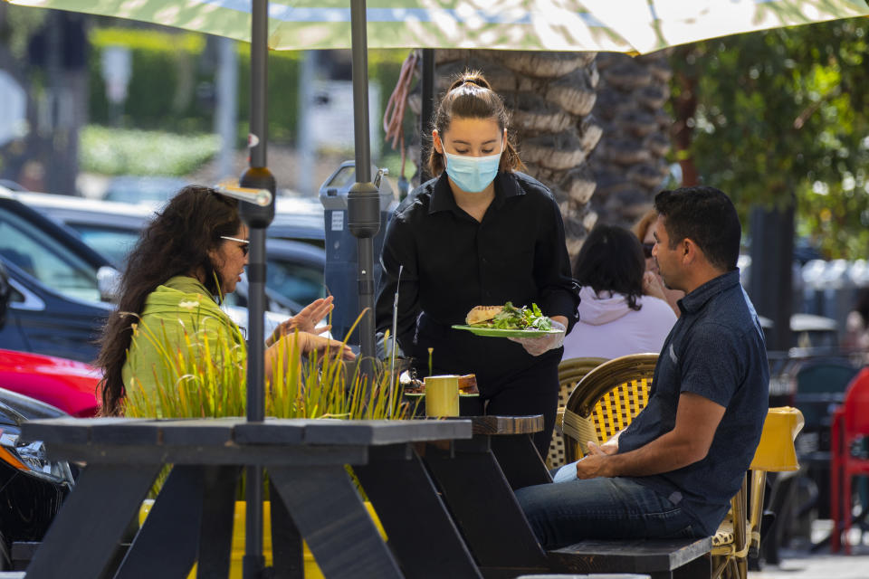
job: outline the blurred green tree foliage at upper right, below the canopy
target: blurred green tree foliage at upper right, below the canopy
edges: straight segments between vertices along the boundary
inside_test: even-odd
[[[742,34],[673,52],[675,160],[752,204],[796,204],[829,258],[869,248],[865,19]],[[743,223],[748,223],[743,221]]]

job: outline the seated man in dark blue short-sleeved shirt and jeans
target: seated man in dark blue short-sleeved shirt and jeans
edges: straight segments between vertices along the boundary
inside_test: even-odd
[[[736,267],[740,221],[712,187],[654,199],[654,259],[682,289],[645,410],[620,436],[516,496],[540,543],[713,535],[749,468],[768,408],[757,314]],[[567,474],[568,476],[565,476]],[[559,482],[560,481],[560,482]]]

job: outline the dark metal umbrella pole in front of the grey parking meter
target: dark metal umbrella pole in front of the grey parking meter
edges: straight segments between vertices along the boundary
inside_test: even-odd
[[[347,221],[358,240],[359,322],[361,371],[369,377],[374,366],[374,236],[380,230],[380,195],[371,182],[371,143],[368,136],[368,20],[365,0],[350,4],[353,55],[353,133],[356,143],[356,184],[347,195]]]

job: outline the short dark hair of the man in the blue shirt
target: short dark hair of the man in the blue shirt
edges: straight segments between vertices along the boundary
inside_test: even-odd
[[[654,209],[664,216],[670,249],[690,239],[715,268],[736,269],[742,227],[730,197],[715,187],[683,187],[654,197]]]

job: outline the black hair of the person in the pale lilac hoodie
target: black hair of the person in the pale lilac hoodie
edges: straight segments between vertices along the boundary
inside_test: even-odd
[[[596,225],[573,263],[580,286],[624,294],[627,307],[636,310],[642,308],[636,299],[643,295],[644,272],[643,246],[634,233],[616,225]]]

